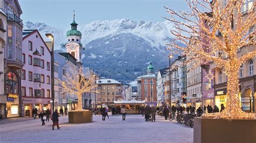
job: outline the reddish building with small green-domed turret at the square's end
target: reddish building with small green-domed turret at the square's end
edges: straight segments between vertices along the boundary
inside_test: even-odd
[[[152,62],[147,66],[147,75],[137,77],[138,95],[140,101],[147,105],[157,105],[157,77],[153,74]]]

